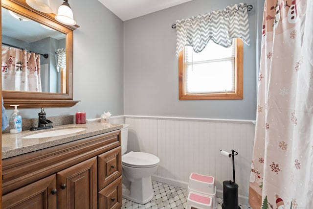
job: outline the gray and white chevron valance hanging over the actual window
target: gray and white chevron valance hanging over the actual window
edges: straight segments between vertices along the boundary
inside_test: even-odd
[[[209,40],[229,47],[232,39],[241,38],[250,45],[249,21],[245,3],[229,5],[222,11],[217,10],[186,20],[176,21],[176,56],[184,46],[192,46],[199,53]]]

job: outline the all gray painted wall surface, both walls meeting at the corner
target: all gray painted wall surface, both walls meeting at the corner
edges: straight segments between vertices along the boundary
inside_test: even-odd
[[[55,13],[62,2],[50,1]],[[98,0],[88,1],[88,5],[84,0],[69,1],[80,25],[73,37],[73,89],[74,100],[81,102],[71,108],[46,108],[47,117],[73,115],[84,109],[87,118],[110,111],[112,116],[255,119],[260,43],[256,31],[262,23],[264,0],[245,1],[253,5],[253,11],[249,12],[251,44],[244,46],[244,99],[178,99],[176,31],[172,23],[238,2],[192,0],[123,23]],[[20,112],[23,118],[34,118],[40,109]]]

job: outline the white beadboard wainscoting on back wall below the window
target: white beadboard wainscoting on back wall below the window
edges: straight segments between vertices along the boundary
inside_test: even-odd
[[[175,186],[188,186],[192,172],[215,178],[217,196],[223,198],[223,181],[235,180],[240,203],[247,204],[255,125],[252,120],[125,116],[130,124],[128,151],[148,152],[160,159],[153,179]]]

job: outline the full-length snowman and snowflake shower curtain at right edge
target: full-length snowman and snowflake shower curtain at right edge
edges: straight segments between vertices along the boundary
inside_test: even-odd
[[[266,0],[253,209],[313,208],[313,0]]]

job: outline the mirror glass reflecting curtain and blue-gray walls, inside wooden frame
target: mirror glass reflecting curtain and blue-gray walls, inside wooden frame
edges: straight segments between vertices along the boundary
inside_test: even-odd
[[[66,34],[1,7],[2,90],[66,93]]]

